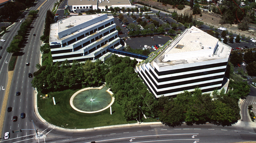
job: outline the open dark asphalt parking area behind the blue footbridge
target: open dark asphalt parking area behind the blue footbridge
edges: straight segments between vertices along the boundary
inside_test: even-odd
[[[147,46],[164,45],[169,40],[172,40],[170,36],[154,35],[154,36],[127,38],[125,40],[125,43],[129,45],[132,49],[143,49],[144,45],[147,45]],[[149,50],[151,52],[155,51],[152,48],[150,48]]]

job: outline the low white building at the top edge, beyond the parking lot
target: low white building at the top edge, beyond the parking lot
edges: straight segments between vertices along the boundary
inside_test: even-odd
[[[68,7],[72,13],[85,13],[85,11],[97,9],[107,11],[106,6],[135,8],[129,0],[68,0]]]

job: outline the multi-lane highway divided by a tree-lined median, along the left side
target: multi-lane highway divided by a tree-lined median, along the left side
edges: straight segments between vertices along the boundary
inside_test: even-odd
[[[10,132],[10,139],[13,139],[12,141],[10,140],[10,142],[27,140],[28,137],[22,136],[34,134],[35,127],[33,126],[33,121],[35,122],[36,128],[38,129],[39,123],[37,123],[38,120],[34,113],[33,104],[34,88],[31,87],[32,78],[28,77],[28,73],[33,73],[34,71],[36,71],[35,65],[39,63],[39,49],[41,45],[40,36],[43,32],[46,11],[52,8],[53,3],[55,2],[56,0],[41,0],[40,2],[38,1],[36,7],[29,8],[29,10],[36,10],[38,7],[40,7],[40,11],[36,19],[30,25],[32,29],[27,35],[27,41],[25,43],[26,46],[22,48],[22,54],[18,56],[16,67],[13,73],[12,84],[10,87],[10,93],[7,102],[7,107],[12,107],[12,111],[5,112],[4,125],[1,135],[1,137],[3,138],[5,132]],[[29,13],[29,10],[24,11],[25,17]],[[2,37],[2,39],[5,39],[6,42],[0,43],[0,46],[3,46],[3,49],[1,49],[0,51],[0,55],[3,56],[0,60],[0,94],[2,95],[1,98],[3,98],[5,94],[5,90],[2,90],[2,87],[4,89],[7,86],[7,66],[11,56],[10,53],[6,52],[6,48],[10,45],[13,36],[17,34],[20,24],[22,23],[19,22],[20,20],[24,21],[24,18],[19,19],[18,22],[13,25],[13,27],[8,29],[8,32]],[[36,35],[33,36],[33,34]],[[26,62],[29,62],[30,65],[26,66]],[[19,96],[15,95],[17,91],[21,93]],[[2,99],[0,100],[3,101]],[[21,119],[21,113],[25,113],[24,119]],[[17,116],[16,122],[12,121],[13,116]],[[20,129],[22,130],[22,132],[20,132]],[[14,131],[14,133],[12,133],[12,130]],[[35,136],[33,136],[32,138],[35,138]]]

